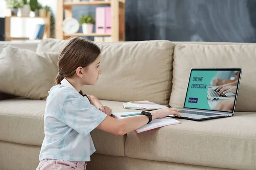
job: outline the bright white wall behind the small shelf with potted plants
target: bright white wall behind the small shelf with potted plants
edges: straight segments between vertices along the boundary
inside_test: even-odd
[[[57,12],[57,0],[38,0],[42,6],[49,6],[54,16]],[[0,0],[0,17],[5,17],[6,1]],[[12,18],[11,37],[29,37],[35,31],[36,24],[42,24],[41,18]]]

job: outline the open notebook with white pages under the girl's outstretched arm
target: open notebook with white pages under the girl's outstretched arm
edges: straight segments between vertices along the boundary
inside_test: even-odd
[[[125,119],[125,118],[128,118],[128,117],[120,117],[120,116],[121,115],[126,115],[126,114],[134,114],[134,113],[139,113],[139,112],[112,113],[112,116],[116,119]],[[132,117],[132,116],[129,116],[129,117]],[[152,122],[144,125],[143,127],[140,127],[139,129],[137,129],[135,131],[137,133],[140,133],[140,132],[155,129],[155,128],[158,128],[158,127],[163,127],[163,126],[168,126],[168,125],[176,125],[176,124],[180,124],[180,121],[177,121],[176,119],[173,119],[173,118],[154,119]]]

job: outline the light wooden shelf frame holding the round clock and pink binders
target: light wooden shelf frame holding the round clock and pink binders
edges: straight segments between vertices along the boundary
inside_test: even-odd
[[[111,6],[111,29],[112,34],[65,34],[62,31],[62,22],[64,14],[66,18],[72,17],[72,6],[94,6],[94,5],[110,5]],[[56,39],[65,40],[71,36],[111,36],[113,42],[125,41],[125,0],[96,0],[96,1],[80,1],[80,2],[64,2],[58,0],[57,16],[55,22]],[[64,11],[64,13],[63,13]]]

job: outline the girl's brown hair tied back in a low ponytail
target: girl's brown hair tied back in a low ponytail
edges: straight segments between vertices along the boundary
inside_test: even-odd
[[[61,50],[58,57],[58,72],[55,85],[61,84],[64,77],[71,77],[76,73],[76,68],[87,67],[94,62],[99,54],[100,48],[81,37],[71,37]],[[82,94],[82,92],[79,92]]]

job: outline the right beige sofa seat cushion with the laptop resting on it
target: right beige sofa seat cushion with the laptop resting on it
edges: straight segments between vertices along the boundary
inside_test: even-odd
[[[128,133],[125,155],[209,167],[256,169],[256,113],[236,112],[229,118],[201,122],[178,120],[179,125]]]

